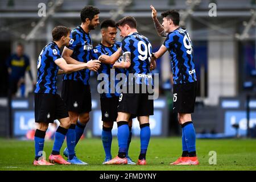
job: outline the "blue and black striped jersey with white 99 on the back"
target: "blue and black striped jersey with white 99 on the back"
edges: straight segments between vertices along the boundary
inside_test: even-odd
[[[122,40],[122,51],[131,53],[131,65],[126,69],[126,75],[133,73],[137,77],[136,84],[152,84],[150,73],[152,46],[149,40],[138,32],[134,32]]]

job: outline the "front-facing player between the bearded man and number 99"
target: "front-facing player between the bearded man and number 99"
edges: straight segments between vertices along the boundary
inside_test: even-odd
[[[101,55],[113,55],[119,47],[121,47],[120,42],[115,42],[115,37],[117,35],[117,27],[115,26],[115,22],[112,19],[106,19],[101,23],[101,43],[96,46],[94,51],[93,59],[98,59]],[[122,56],[117,61],[121,61]],[[117,121],[117,107],[118,107],[118,100],[120,93],[118,90],[115,90],[116,85],[118,84],[118,80],[115,80],[115,77],[118,73],[125,73],[125,69],[123,68],[117,68],[112,69],[113,64],[112,63],[101,63],[101,67],[98,69],[98,75],[101,74],[104,78],[103,82],[106,84],[108,83],[106,89],[107,92],[100,94],[100,100],[101,100],[101,115],[102,115],[102,144],[105,150],[105,162],[108,162],[112,159],[111,155],[111,145],[112,145],[112,128],[114,121]],[[114,71],[113,75],[110,76],[110,72]],[[113,78],[113,80],[110,80],[110,78]],[[106,80],[105,80],[106,79]],[[111,82],[114,81],[115,84],[114,87],[111,88]],[[114,90],[113,90],[114,89]],[[131,158],[128,155],[129,145],[131,142],[131,126],[132,126],[132,119],[129,119],[129,139],[127,143],[127,151],[126,151],[126,158],[127,158],[127,164],[135,164]]]

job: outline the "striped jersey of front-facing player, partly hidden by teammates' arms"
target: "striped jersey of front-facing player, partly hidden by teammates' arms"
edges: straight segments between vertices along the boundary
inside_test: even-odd
[[[113,53],[115,53],[118,48],[121,47],[121,43],[117,42],[113,44],[112,47],[106,47],[103,44],[98,44],[98,46],[95,47],[93,50],[93,59],[98,59],[101,55],[108,55],[111,56]],[[119,58],[118,61],[122,61],[122,56]],[[118,73],[125,73],[125,69],[119,69],[115,68],[112,70],[113,64],[104,64],[101,63],[101,67],[98,69],[97,74],[105,73],[104,80],[108,79],[108,93],[101,93],[100,96],[101,98],[111,98],[111,97],[119,97],[120,96],[120,91],[115,90],[115,86],[118,84],[119,80],[115,80],[115,77],[117,76]],[[115,74],[113,76],[110,76],[110,71],[114,71]],[[103,81],[104,81],[103,80]],[[114,82],[115,84],[111,87],[111,81]]]

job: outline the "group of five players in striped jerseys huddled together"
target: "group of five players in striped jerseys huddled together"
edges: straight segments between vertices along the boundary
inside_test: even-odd
[[[154,101],[148,86],[154,85],[151,71],[156,68],[156,59],[166,51],[170,52],[174,75],[174,111],[178,113],[182,127],[182,155],[171,165],[197,165],[196,138],[191,113],[196,98],[196,73],[192,43],[187,31],[179,27],[179,13],[175,10],[162,13],[162,25],[151,6],[152,19],[160,36],[166,36],[164,44],[155,53],[150,40],[139,34],[137,22],[126,16],[114,22],[112,19],[99,21],[100,10],[85,6],[81,10],[81,26],[73,29],[57,26],[52,30],[53,41],[45,46],[38,58],[38,80],[35,87],[35,166],[57,164],[86,165],[76,156],[75,147],[79,142],[89,112],[92,110],[90,93],[90,71],[104,75],[104,92],[100,92],[102,114],[102,144],[105,159],[102,164],[146,165],[146,152],[150,142],[150,115],[154,115]],[[90,31],[100,25],[101,43],[93,48]],[[117,30],[122,42],[115,42]],[[64,47],[65,46],[65,47]],[[64,47],[61,54],[60,48]],[[117,90],[118,80],[124,75],[124,85]],[[61,96],[56,93],[56,77],[63,76]],[[133,80],[129,76],[133,75]],[[114,85],[112,85],[114,83]],[[100,85],[100,83],[99,83]],[[139,88],[139,92],[137,92]],[[129,90],[129,91],[128,91]],[[132,119],[138,118],[141,128],[141,150],[137,163],[129,156],[132,136]],[[49,162],[43,158],[44,138],[48,124],[55,119],[60,122]],[[112,158],[112,128],[117,122],[118,155]],[[64,139],[67,148],[60,155]]]

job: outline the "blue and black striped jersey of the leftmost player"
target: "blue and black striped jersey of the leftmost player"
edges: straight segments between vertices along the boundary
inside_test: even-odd
[[[38,57],[38,80],[35,93],[56,94],[56,77],[59,67],[54,61],[60,57],[60,48],[55,42],[51,42],[43,48]]]

